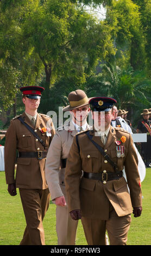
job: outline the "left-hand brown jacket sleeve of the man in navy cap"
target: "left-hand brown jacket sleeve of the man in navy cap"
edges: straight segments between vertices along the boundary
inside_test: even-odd
[[[70,153],[68,155],[65,172],[65,184],[69,211],[80,209],[79,185],[81,174],[81,159],[76,137],[74,137]]]

